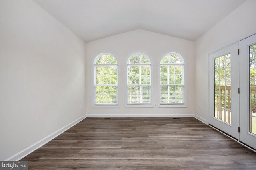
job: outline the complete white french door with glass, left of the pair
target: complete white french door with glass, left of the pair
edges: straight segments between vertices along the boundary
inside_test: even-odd
[[[209,124],[239,140],[238,43],[209,55]]]

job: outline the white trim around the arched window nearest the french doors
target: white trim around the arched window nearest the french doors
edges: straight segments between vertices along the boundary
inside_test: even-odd
[[[161,64],[161,60],[162,58],[165,56],[165,55],[168,55],[170,53],[177,53],[178,55],[180,55],[183,59],[183,63],[182,64]],[[170,108],[170,107],[173,107],[173,108],[182,108],[182,107],[188,107],[187,106],[187,101],[188,101],[188,90],[187,90],[187,64],[186,64],[186,60],[185,60],[185,57],[184,55],[182,55],[182,53],[180,53],[179,51],[170,51],[164,55],[162,55],[162,57],[160,57],[159,61],[158,61],[158,108]],[[179,103],[172,103],[172,104],[161,104],[161,84],[160,84],[160,74],[161,74],[161,71],[160,71],[160,67],[161,65],[184,65],[184,103],[182,104],[179,104]]]

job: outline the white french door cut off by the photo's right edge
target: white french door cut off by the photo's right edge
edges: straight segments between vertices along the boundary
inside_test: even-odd
[[[240,141],[256,149],[256,35],[239,41]]]

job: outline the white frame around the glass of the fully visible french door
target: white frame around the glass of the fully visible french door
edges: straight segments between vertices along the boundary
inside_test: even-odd
[[[214,53],[209,54],[209,111],[208,111],[208,121],[211,124],[211,126],[214,126],[224,133],[227,133],[231,135],[233,138],[239,140],[239,133],[238,133],[238,127],[239,127],[239,94],[237,92],[237,89],[239,88],[239,78],[236,78],[236,75],[239,74],[239,69],[236,69],[239,67],[239,58],[237,54],[237,49],[239,48],[238,42],[233,43],[225,48],[222,48],[218,51],[215,51]],[[214,116],[214,110],[215,107],[214,104],[214,59],[230,54],[231,56],[231,123],[227,123],[225,121],[222,121]],[[225,92],[226,94],[226,92]],[[225,98],[225,97],[224,97]],[[226,107],[226,106],[225,106]],[[222,110],[222,109],[221,109]],[[225,120],[226,120],[226,113],[224,114]]]

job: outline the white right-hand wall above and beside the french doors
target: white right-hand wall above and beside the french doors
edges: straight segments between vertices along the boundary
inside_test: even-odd
[[[203,119],[206,119],[208,101],[207,53],[255,30],[255,7],[256,0],[247,0],[195,42],[196,115]]]

